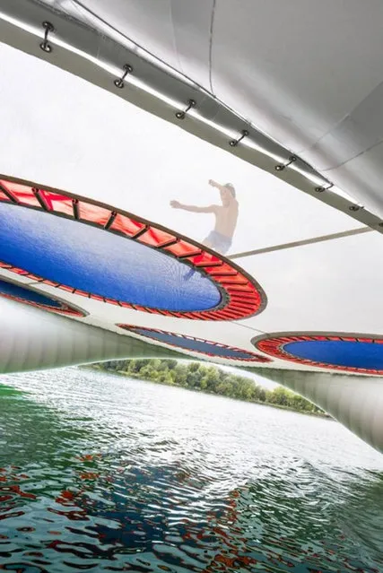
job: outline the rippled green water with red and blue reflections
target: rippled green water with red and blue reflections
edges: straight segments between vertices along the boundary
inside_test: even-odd
[[[383,457],[333,421],[62,369],[2,377],[0,569],[383,569]]]

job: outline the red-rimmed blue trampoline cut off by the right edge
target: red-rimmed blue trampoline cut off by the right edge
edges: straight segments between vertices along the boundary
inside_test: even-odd
[[[269,356],[337,371],[383,375],[383,337],[367,334],[287,333],[253,339]]]

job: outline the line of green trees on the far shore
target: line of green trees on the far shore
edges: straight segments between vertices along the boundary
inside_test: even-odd
[[[325,413],[309,400],[283,386],[267,390],[257,385],[251,378],[231,374],[214,366],[205,366],[200,362],[183,363],[173,359],[157,358],[110,360],[95,364],[94,367],[130,378],[140,378],[169,386],[181,386],[246,402],[269,404],[296,412]]]

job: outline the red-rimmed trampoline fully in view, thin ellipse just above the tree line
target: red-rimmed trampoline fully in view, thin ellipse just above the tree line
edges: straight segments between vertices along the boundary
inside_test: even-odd
[[[204,340],[202,338],[196,338],[194,336],[170,333],[163,330],[157,330],[154,328],[144,328],[141,326],[131,326],[131,325],[118,325],[118,326],[131,333],[140,334],[140,336],[146,336],[147,338],[156,340],[159,343],[166,343],[169,344],[170,346],[174,346],[182,350],[198,352],[200,354],[205,354],[206,356],[210,357],[226,358],[229,360],[246,360],[253,362],[272,361],[266,356],[256,354],[255,352],[240,350],[235,346],[228,346],[226,344],[214,343],[212,341]]]

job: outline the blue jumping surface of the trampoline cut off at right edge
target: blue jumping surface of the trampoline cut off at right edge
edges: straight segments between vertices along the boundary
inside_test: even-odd
[[[383,369],[383,344],[348,341],[301,341],[283,346],[297,358],[335,366]]]

